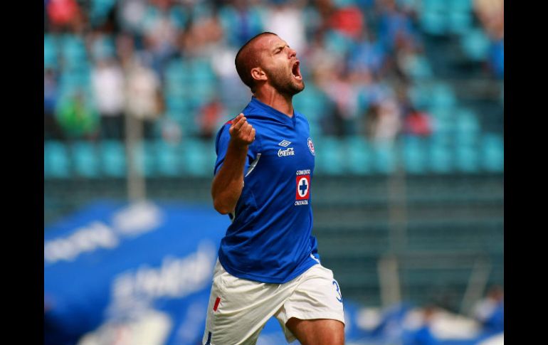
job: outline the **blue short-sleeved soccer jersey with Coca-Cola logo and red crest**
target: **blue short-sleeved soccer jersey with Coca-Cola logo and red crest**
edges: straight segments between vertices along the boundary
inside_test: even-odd
[[[319,262],[312,236],[314,144],[299,112],[288,117],[252,97],[243,115],[255,128],[255,140],[218,260],[236,277],[281,284]],[[231,121],[216,137],[215,174],[226,155],[230,127]]]

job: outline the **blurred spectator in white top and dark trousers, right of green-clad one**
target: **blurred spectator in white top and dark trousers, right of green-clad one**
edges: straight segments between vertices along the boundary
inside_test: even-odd
[[[95,103],[101,115],[105,139],[122,139],[124,119],[124,75],[112,59],[99,60],[91,73]]]

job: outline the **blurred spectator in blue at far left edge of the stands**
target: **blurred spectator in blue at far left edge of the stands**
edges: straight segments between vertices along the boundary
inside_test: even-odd
[[[46,68],[43,75],[44,139],[62,139],[63,132],[56,120],[58,81],[55,71]]]

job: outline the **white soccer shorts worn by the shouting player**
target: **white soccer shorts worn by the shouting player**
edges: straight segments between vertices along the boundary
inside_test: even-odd
[[[342,296],[333,272],[317,264],[289,282],[268,284],[234,277],[217,260],[202,344],[255,344],[273,316],[288,342],[296,339],[285,327],[292,317],[344,324]]]

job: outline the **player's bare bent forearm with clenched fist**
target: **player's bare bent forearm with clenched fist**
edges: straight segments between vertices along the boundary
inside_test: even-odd
[[[211,184],[214,208],[221,214],[232,213],[243,189],[243,168],[249,145],[255,140],[255,129],[243,116],[238,115],[228,129],[231,139],[225,159]]]

